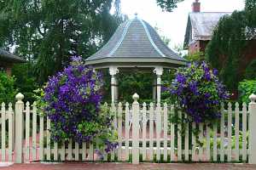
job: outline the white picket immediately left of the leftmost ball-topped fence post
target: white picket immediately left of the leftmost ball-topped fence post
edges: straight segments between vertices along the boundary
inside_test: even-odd
[[[9,158],[8,158],[8,161],[13,161],[13,138],[14,138],[14,135],[13,135],[13,108],[12,108],[12,104],[9,103],[9,109],[8,109],[9,113],[8,113],[8,118],[9,118],[9,121],[8,121],[8,129],[9,129],[9,141],[8,141],[8,150],[9,150]]]

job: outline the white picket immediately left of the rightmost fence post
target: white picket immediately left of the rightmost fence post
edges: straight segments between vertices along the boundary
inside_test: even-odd
[[[247,161],[247,105],[242,104],[242,161]]]

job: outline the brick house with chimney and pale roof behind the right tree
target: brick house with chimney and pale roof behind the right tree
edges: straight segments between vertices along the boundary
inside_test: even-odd
[[[183,48],[188,49],[189,54],[196,52],[205,53],[208,42],[212,39],[212,31],[218,25],[218,20],[227,12],[201,12],[201,3],[195,0],[192,4],[192,13],[189,13],[187,29],[184,37]],[[247,65],[256,59],[256,36],[248,38],[247,48],[244,49],[240,73],[243,75]]]

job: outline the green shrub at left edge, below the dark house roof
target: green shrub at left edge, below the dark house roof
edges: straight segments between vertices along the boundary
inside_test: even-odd
[[[6,73],[0,71],[0,104],[2,102],[8,104],[15,101],[16,90],[14,84],[14,77],[9,77]]]

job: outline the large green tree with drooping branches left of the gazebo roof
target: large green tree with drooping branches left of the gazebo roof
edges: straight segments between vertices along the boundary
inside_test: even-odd
[[[0,1],[0,47],[34,63],[43,84],[70,61],[84,58],[107,42],[122,18],[119,0],[12,0]]]

